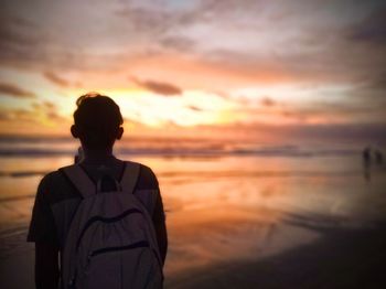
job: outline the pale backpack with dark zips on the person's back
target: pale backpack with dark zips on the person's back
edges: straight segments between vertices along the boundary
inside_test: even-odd
[[[100,192],[78,165],[63,168],[83,195],[62,259],[62,285],[76,289],[162,288],[162,264],[149,212],[133,194],[140,164],[126,162],[117,191]]]

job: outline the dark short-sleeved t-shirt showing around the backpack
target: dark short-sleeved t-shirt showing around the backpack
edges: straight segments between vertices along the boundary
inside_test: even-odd
[[[81,167],[94,182],[106,174],[120,180],[125,162],[115,159],[105,164],[84,162]],[[151,169],[143,164],[140,165],[133,193],[148,210],[156,226],[164,222],[157,178]],[[62,249],[81,201],[81,193],[61,170],[46,174],[37,188],[28,242],[50,243]]]

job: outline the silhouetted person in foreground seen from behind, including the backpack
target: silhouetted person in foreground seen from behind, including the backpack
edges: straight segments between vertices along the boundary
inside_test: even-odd
[[[41,180],[33,206],[36,288],[162,288],[168,236],[157,178],[112,154],[124,119],[111,98],[87,94],[76,105],[79,158]]]

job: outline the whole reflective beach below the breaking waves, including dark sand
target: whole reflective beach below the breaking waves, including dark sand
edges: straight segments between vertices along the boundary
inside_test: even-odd
[[[165,288],[384,288],[384,167],[368,179],[352,150],[265,152],[118,154],[158,175]],[[34,190],[72,157],[1,159],[1,283],[33,288],[25,234]]]

